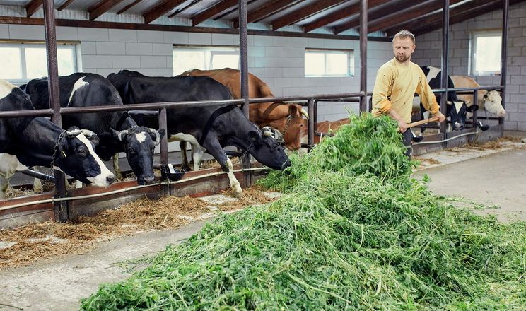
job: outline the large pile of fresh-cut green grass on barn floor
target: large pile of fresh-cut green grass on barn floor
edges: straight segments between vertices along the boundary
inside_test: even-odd
[[[353,117],[268,177],[287,192],[281,199],[221,216],[144,271],[101,285],[81,308],[522,310],[525,223],[433,196],[409,177],[399,139],[387,118]]]

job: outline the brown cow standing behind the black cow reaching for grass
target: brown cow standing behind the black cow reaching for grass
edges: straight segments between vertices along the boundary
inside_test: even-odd
[[[209,76],[226,86],[234,98],[241,98],[240,71],[237,69],[223,68],[214,70],[193,69],[185,71],[180,76]],[[272,98],[269,86],[253,74],[248,78],[249,98]],[[300,133],[303,128],[303,117],[308,117],[307,112],[300,105],[286,104],[285,102],[262,102],[249,105],[250,121],[258,127],[273,127],[281,132],[285,146],[289,150],[298,150],[301,147]]]

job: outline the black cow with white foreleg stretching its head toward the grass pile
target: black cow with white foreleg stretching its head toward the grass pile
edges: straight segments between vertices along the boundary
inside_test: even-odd
[[[206,76],[148,77],[124,70],[107,78],[117,88],[125,104],[232,98],[226,86]],[[137,123],[148,127],[158,124],[156,116],[133,116]],[[199,163],[204,151],[214,156],[223,171],[227,172],[230,187],[238,195],[242,190],[223,147],[236,146],[275,170],[291,165],[284,149],[271,134],[262,132],[235,105],[172,108],[168,110],[168,134],[170,141],[188,141],[192,148],[197,149],[194,163]]]

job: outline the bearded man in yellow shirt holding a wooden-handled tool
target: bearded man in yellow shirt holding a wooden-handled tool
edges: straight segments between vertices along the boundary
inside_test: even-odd
[[[443,122],[445,117],[440,113],[435,94],[431,90],[426,75],[419,65],[411,62],[411,54],[416,48],[414,35],[402,30],[392,39],[394,58],[383,64],[376,75],[373,89],[373,115],[389,115],[398,122],[404,134],[404,145],[408,146],[407,156],[411,158],[411,122],[414,93],[418,93],[423,107]]]

